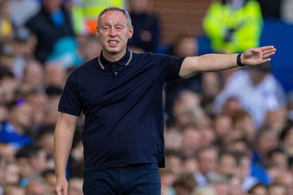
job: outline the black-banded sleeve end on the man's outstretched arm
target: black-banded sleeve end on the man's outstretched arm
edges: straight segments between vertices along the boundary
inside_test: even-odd
[[[165,66],[165,81],[174,80],[179,77],[179,71],[182,65],[182,62],[185,58],[176,58],[169,56],[167,58],[167,63]]]

